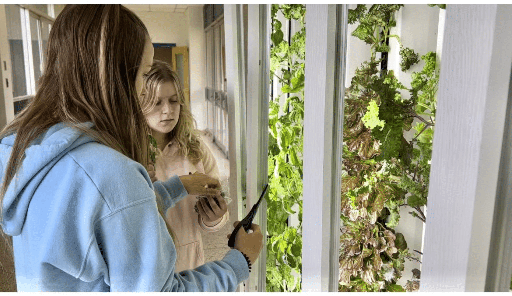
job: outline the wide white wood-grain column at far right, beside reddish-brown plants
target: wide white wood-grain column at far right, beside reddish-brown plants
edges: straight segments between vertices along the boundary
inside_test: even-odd
[[[422,292],[484,291],[512,67],[510,15],[510,5],[447,5]]]

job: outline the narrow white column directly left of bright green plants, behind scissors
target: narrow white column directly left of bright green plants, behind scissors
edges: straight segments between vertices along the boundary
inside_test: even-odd
[[[270,5],[250,4],[247,36],[247,210],[268,184],[268,109],[270,97]],[[267,280],[267,203],[262,201],[254,222],[264,233],[263,250],[253,265],[250,292],[265,292]],[[247,287],[246,287],[247,288]]]

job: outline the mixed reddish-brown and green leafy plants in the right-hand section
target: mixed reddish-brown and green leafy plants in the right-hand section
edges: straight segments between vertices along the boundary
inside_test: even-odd
[[[403,206],[426,220],[421,207],[428,196],[439,68],[435,52],[421,56],[425,66],[412,73],[408,88],[382,63],[391,50],[389,38],[399,42],[402,71],[420,61],[418,53],[389,33],[402,6],[358,5],[349,10],[349,23],[358,24],[352,35],[371,49],[370,60],[356,69],[345,97],[339,291],[406,291],[397,284],[404,262],[419,261],[394,228]],[[408,99],[402,97],[406,91]],[[404,133],[412,128],[416,133],[408,141]],[[408,291],[419,289],[419,278],[419,270],[413,271]]]

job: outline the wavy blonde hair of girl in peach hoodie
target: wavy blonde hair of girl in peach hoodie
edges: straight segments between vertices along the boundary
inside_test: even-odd
[[[191,163],[197,164],[204,156],[201,148],[200,135],[195,128],[195,120],[192,112],[185,102],[183,86],[180,76],[172,66],[160,60],[153,61],[153,67],[144,76],[146,93],[141,95],[141,105],[144,114],[155,108],[158,102],[158,91],[162,84],[173,83],[178,93],[178,102],[181,105],[180,115],[176,127],[169,132],[170,139],[173,139],[180,148],[180,153],[188,157]]]

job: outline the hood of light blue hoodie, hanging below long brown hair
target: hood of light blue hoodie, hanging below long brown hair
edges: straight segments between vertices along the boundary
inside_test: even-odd
[[[92,122],[81,126],[92,128]],[[16,134],[0,141],[0,186],[5,178]],[[0,225],[8,235],[19,235],[26,220],[32,196],[48,171],[70,150],[94,140],[73,127],[59,123],[42,133],[25,151],[22,166],[9,184],[2,204]]]

